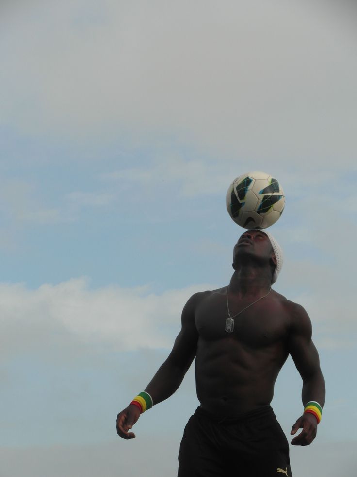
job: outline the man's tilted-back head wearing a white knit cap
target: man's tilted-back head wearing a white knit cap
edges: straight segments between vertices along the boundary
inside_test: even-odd
[[[238,239],[233,250],[233,268],[240,263],[242,255],[253,255],[257,259],[269,260],[272,268],[272,283],[276,282],[283,266],[283,252],[276,239],[265,230],[246,230]]]

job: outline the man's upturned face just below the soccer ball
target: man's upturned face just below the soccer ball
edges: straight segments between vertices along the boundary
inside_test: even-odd
[[[239,237],[233,249],[233,262],[238,263],[239,257],[246,253],[262,258],[275,257],[268,236],[261,230],[247,230]]]

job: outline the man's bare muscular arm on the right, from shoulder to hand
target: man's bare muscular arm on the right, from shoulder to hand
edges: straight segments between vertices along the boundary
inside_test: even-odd
[[[311,321],[304,308],[296,303],[289,306],[291,325],[289,334],[289,353],[303,380],[303,406],[315,401],[321,407],[325,403],[325,381],[320,368],[319,353],[311,340]],[[292,439],[292,445],[309,445],[316,437],[317,418],[306,412],[292,426],[291,434],[299,428],[303,430]]]

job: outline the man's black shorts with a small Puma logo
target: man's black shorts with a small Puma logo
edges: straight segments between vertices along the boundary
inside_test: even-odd
[[[218,420],[197,407],[186,424],[178,477],[292,477],[289,443],[271,406]]]

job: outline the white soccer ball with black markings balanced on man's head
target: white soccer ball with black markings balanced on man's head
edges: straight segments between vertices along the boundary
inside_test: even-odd
[[[226,205],[231,218],[244,229],[266,229],[282,214],[285,195],[270,174],[247,172],[230,184]]]

